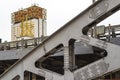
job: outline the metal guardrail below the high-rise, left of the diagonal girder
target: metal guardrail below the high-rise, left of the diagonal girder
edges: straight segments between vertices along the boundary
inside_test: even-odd
[[[12,41],[4,43],[0,43],[0,51],[3,50],[11,50],[11,49],[19,49],[19,48],[27,48],[27,47],[34,47],[40,44],[45,38],[47,37],[39,37],[33,39],[22,39],[19,41]]]

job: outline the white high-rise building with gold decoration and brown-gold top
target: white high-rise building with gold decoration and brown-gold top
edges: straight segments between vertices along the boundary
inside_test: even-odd
[[[33,5],[11,16],[12,41],[46,36],[46,9]]]

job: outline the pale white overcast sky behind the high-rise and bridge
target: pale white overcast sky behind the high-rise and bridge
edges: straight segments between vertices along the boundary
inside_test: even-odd
[[[47,9],[47,34],[51,35],[90,6],[92,0],[2,0],[0,2],[0,38],[3,39],[3,42],[11,40],[11,13],[20,8],[27,8],[34,3]],[[118,20],[120,19],[120,15],[114,16],[117,16]],[[114,18],[112,17],[112,20]],[[109,23],[111,22],[108,20],[105,24]]]

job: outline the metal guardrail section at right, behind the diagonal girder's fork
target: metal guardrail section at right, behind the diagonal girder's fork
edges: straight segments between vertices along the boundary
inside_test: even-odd
[[[95,29],[91,28],[88,31],[88,35],[94,37],[95,36]],[[102,37],[118,37],[120,36],[120,25],[110,25],[109,26],[96,26],[96,35],[97,38],[102,38]]]

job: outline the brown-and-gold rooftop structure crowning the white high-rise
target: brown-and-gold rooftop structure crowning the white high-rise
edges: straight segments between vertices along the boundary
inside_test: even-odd
[[[12,13],[12,23],[15,24],[21,22],[22,20],[25,21],[26,15],[28,16],[28,20],[34,18],[41,18],[46,20],[46,10],[44,8],[34,5],[29,8]]]

